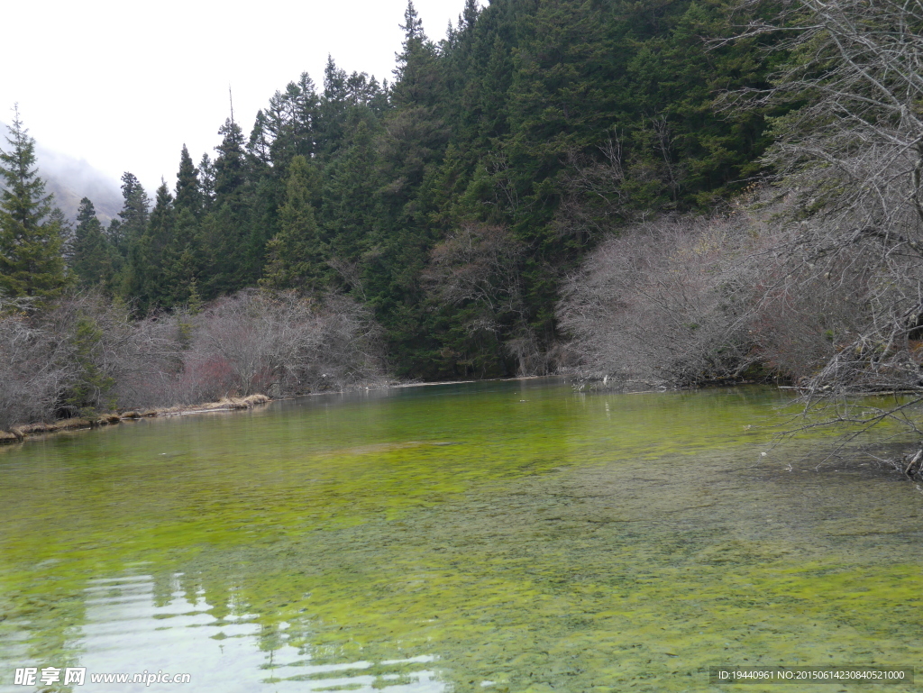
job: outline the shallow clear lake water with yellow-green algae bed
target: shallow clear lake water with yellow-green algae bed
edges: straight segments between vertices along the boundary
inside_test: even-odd
[[[51,690],[222,693],[756,691],[776,687],[708,667],[914,666],[923,494],[815,469],[816,441],[771,448],[784,403],[523,380],[0,448],[0,690],[31,689],[24,666],[87,668]],[[192,683],[90,683],[158,670]]]

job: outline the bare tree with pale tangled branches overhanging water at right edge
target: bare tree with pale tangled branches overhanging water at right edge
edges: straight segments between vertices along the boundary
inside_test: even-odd
[[[906,412],[923,400],[923,3],[786,7],[777,22],[744,32],[785,37],[777,47],[792,58],[776,86],[727,102],[804,104],[775,122],[767,157],[795,197],[779,219],[793,233],[779,249],[785,271],[773,292],[802,304],[812,297],[810,312],[839,317],[819,330],[829,340],[822,362],[801,359],[801,384],[809,409],[833,403],[821,421],[897,417],[916,429]],[[845,399],[884,390],[914,397],[877,411]]]

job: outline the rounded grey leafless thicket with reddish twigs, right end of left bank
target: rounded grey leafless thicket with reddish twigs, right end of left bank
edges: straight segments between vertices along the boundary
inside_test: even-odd
[[[174,402],[275,396],[344,389],[382,376],[378,328],[366,310],[339,295],[245,291],[214,302],[198,316],[178,314],[167,331],[186,341],[179,361],[169,338],[146,343],[160,351],[150,376]],[[165,357],[165,358],[164,358]],[[137,388],[136,388],[137,389]]]

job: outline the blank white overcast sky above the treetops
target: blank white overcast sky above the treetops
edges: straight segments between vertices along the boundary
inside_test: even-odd
[[[414,0],[433,39],[463,5]],[[131,171],[152,194],[161,176],[174,187],[184,142],[197,162],[213,156],[229,83],[248,136],[258,109],[303,71],[322,86],[327,54],[347,72],[390,80],[405,8],[406,0],[8,3],[0,121],[12,120],[18,102],[42,145],[114,181]]]

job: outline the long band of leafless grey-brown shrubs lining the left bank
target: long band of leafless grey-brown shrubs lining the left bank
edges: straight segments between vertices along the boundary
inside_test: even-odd
[[[380,334],[340,295],[247,291],[201,314],[130,322],[99,294],[30,314],[0,313],[0,429],[104,412],[192,404],[254,392],[345,389],[384,379]]]

